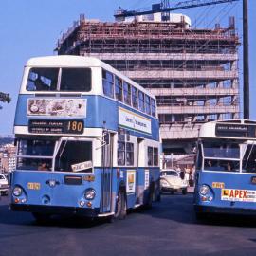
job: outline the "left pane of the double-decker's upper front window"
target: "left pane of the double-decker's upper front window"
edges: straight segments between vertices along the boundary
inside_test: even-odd
[[[56,91],[59,68],[31,68],[27,91]]]

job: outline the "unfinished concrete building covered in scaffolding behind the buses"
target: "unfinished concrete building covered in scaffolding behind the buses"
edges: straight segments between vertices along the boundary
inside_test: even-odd
[[[239,118],[238,45],[229,27],[192,28],[184,15],[78,22],[58,40],[59,55],[94,56],[155,94],[165,154],[189,153],[203,122]]]

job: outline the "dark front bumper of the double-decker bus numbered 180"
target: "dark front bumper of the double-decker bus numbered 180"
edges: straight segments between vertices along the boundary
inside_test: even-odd
[[[85,217],[97,217],[100,213],[99,208],[78,208],[78,207],[59,207],[41,205],[20,205],[10,204],[10,209],[14,211],[42,212],[56,215],[79,215]]]

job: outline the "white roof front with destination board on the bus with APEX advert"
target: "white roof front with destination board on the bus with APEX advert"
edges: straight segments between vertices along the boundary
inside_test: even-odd
[[[256,139],[256,121],[248,119],[210,121],[201,126],[199,137]]]

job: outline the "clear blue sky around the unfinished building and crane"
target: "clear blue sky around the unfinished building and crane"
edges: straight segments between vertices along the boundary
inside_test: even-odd
[[[114,10],[149,9],[160,0],[1,0],[0,3],[0,91],[9,93],[11,102],[1,103],[0,135],[11,135],[23,68],[32,57],[55,55],[54,48],[80,14],[87,19],[114,21]],[[180,1],[170,0],[174,5]],[[256,119],[256,0],[248,0],[250,119]],[[227,26],[229,16],[236,18],[242,42],[242,0],[205,8],[184,9],[192,19],[192,27],[213,28],[215,23]],[[242,70],[240,46],[240,76]],[[243,81],[240,82],[242,90]],[[241,94],[240,101],[243,97]],[[242,106],[242,103],[241,103]],[[241,107],[242,109],[242,107]],[[242,116],[241,116],[242,117]]]

